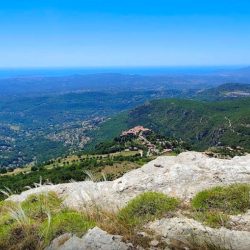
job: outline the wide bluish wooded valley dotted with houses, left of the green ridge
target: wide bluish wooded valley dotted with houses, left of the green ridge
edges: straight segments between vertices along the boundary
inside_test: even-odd
[[[174,91],[84,92],[0,100],[0,168],[81,150],[104,119]]]

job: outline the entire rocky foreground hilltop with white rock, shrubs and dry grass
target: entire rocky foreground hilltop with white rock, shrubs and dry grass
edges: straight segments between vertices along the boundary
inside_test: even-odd
[[[0,204],[0,246],[247,250],[249,166],[185,152],[114,181],[40,185]]]

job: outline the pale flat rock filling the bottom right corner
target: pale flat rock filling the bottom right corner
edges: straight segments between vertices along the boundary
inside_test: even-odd
[[[213,229],[192,219],[164,218],[150,223],[147,228],[175,249],[250,249],[250,232]]]

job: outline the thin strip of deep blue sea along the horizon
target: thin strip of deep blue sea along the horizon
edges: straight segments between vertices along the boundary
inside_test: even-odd
[[[238,69],[239,66],[210,67],[89,67],[89,68],[2,68],[0,78],[10,77],[59,77],[70,75],[87,75],[101,73],[119,73],[136,75],[176,75],[176,74],[209,74],[221,70]]]

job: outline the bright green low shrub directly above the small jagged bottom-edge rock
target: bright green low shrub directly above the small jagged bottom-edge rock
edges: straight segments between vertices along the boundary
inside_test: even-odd
[[[64,211],[51,218],[51,222],[44,222],[41,231],[45,235],[45,242],[50,242],[55,237],[64,233],[83,235],[88,229],[93,228],[95,223],[86,216],[75,211]]]

